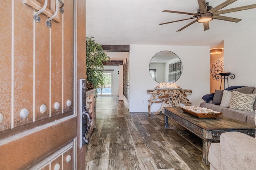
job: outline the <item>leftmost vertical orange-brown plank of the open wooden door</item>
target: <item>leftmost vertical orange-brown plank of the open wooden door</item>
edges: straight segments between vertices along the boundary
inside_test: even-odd
[[[12,90],[12,1],[5,0],[0,5],[0,116],[3,117],[0,123],[0,131],[11,129],[11,90]],[[4,28],[4,29],[3,29]],[[5,49],[5,50],[2,50]],[[1,118],[0,118],[1,119]]]

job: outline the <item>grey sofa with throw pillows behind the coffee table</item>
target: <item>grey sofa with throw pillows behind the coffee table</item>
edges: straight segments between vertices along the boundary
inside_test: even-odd
[[[256,88],[249,86],[231,86],[224,90],[215,90],[202,98],[200,104],[215,111],[222,112],[223,116],[237,119],[255,125]]]

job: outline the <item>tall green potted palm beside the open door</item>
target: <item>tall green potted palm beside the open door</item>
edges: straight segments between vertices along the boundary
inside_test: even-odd
[[[103,52],[102,47],[95,43],[94,37],[86,37],[86,77],[87,90],[104,87],[104,66],[102,62],[110,61],[110,57]]]

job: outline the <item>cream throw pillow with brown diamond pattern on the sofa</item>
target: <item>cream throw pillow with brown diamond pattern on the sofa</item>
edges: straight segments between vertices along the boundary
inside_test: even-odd
[[[256,94],[244,94],[233,91],[229,108],[243,111],[254,111],[253,104],[255,102],[255,98]]]

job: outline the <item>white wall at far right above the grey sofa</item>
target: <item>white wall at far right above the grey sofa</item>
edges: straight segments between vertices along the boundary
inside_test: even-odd
[[[256,24],[224,39],[224,70],[235,74],[229,86],[256,86]]]

